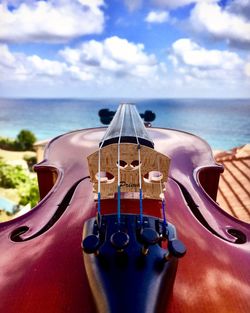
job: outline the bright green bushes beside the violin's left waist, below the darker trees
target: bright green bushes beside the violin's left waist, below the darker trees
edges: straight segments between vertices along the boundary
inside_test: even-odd
[[[21,166],[6,164],[0,159],[0,186],[16,188],[20,196],[20,205],[28,203],[35,206],[39,201],[36,178],[30,176]]]

